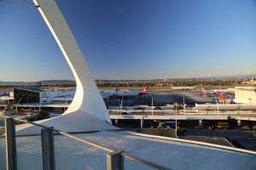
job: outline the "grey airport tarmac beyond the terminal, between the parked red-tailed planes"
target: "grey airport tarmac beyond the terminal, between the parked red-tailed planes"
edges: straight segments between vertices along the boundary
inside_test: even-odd
[[[195,106],[197,104],[205,103],[216,103],[215,97],[207,97],[201,94],[199,90],[150,90],[148,94],[130,98],[123,99],[123,106],[133,106],[133,105],[167,105],[167,104],[183,104],[183,98],[185,104],[189,106]],[[121,104],[121,99],[110,98],[106,100],[106,105],[117,106]]]

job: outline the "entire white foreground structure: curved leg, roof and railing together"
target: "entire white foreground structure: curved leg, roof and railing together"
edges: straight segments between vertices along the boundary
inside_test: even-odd
[[[256,153],[250,150],[113,127],[55,1],[34,3],[73,71],[77,91],[62,116],[18,126],[14,119],[3,117],[6,131],[0,140],[0,169],[256,169]]]

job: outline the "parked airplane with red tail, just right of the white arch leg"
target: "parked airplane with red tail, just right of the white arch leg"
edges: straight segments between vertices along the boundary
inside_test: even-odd
[[[111,96],[116,96],[118,98],[121,97],[134,97],[134,96],[139,96],[139,95],[144,95],[148,93],[149,87],[147,86],[146,88],[143,89],[143,91],[130,91],[130,90],[119,90],[118,88],[114,90],[109,90],[107,92],[101,92],[102,97],[108,98]]]

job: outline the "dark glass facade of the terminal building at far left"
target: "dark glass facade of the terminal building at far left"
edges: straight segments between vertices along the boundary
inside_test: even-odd
[[[29,89],[14,88],[15,104],[38,103],[40,101],[40,93]]]

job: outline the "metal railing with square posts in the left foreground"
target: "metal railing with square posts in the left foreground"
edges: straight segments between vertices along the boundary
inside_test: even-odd
[[[138,158],[136,156],[131,156],[125,153],[124,150],[112,150],[109,149],[102,144],[96,144],[91,142],[90,140],[79,138],[71,133],[65,133],[61,130],[55,129],[54,127],[46,127],[44,125],[29,122],[26,120],[20,120],[17,118],[12,118],[9,116],[0,116],[5,119],[5,144],[6,144],[6,167],[8,170],[16,170],[17,169],[17,153],[16,153],[16,135],[15,135],[15,121],[17,122],[25,122],[32,124],[37,127],[43,127],[41,129],[41,143],[42,143],[42,157],[43,157],[43,169],[44,170],[55,170],[55,144],[54,137],[55,133],[59,133],[61,135],[67,136],[68,138],[75,139],[84,144],[89,144],[97,149],[107,151],[106,159],[107,159],[107,170],[124,170],[125,162],[124,158],[135,161],[139,164],[143,164],[148,167],[153,167],[155,169],[162,170],[170,170],[168,167],[163,167],[159,164],[156,164],[151,161],[146,161],[142,158]]]

